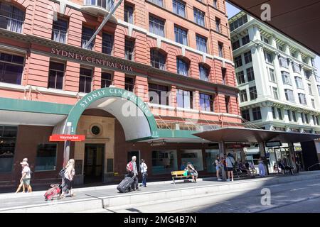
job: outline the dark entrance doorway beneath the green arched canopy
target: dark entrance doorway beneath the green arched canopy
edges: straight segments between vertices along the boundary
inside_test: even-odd
[[[85,144],[84,183],[97,183],[103,181],[103,160],[105,144]]]

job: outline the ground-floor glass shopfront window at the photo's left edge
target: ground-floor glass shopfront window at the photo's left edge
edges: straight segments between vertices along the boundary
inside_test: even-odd
[[[15,126],[0,126],[0,172],[11,172],[16,146]]]

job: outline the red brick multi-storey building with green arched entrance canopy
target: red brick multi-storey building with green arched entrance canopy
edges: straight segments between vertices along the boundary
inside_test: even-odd
[[[241,124],[225,1],[123,1],[84,48],[115,4],[0,1],[1,186],[23,157],[34,184],[58,179],[65,144],[49,136],[69,124],[86,136],[78,184],[117,180],[132,155],[151,178],[188,161],[213,175],[219,145],[193,133]]]

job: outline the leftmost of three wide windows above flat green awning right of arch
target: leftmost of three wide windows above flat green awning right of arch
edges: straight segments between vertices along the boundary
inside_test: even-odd
[[[159,84],[149,84],[149,102],[169,106],[169,88]]]

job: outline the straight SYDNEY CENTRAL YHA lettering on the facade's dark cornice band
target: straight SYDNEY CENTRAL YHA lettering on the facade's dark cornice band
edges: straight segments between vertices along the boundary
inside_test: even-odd
[[[57,48],[51,48],[51,54],[53,55],[59,55],[63,57],[68,57],[74,60],[80,60],[82,62],[88,62],[95,65],[104,65],[106,67],[114,68],[117,70],[124,70],[127,72],[132,72],[132,67],[124,64],[119,64],[117,62],[111,62],[108,60],[105,60],[103,58],[97,58],[97,57],[90,57],[86,55],[81,55],[75,52],[69,52],[65,50],[59,50]]]

